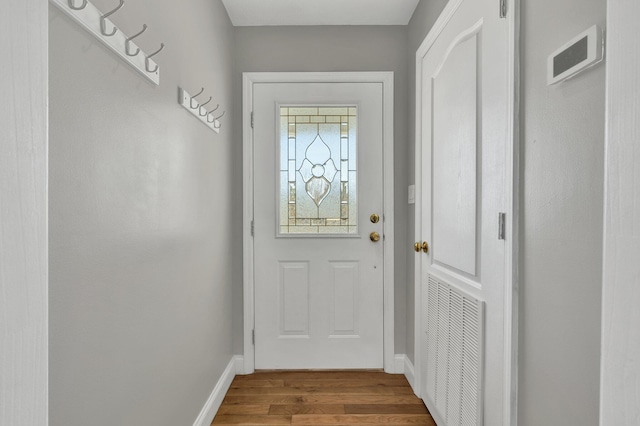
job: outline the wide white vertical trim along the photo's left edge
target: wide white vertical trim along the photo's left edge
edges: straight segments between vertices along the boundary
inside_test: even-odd
[[[49,422],[47,2],[0,14],[0,424]]]

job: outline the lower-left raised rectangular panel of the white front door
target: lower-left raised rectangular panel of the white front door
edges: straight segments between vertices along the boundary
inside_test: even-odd
[[[280,335],[309,335],[309,263],[280,262]]]

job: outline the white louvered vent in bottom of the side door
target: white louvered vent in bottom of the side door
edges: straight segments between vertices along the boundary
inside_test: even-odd
[[[440,426],[480,426],[484,302],[433,276],[423,294],[425,402]]]

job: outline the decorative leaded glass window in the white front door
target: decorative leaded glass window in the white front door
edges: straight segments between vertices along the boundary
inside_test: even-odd
[[[280,107],[280,232],[357,234],[357,109]]]

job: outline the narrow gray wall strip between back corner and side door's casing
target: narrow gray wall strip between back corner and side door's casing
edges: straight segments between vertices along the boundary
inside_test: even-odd
[[[407,172],[409,184],[415,184],[416,172],[416,52],[429,30],[435,23],[440,12],[446,6],[448,0],[421,0],[416,11],[409,21],[409,149],[407,150]],[[420,240],[420,236],[415,231],[415,205],[410,205],[407,216],[407,235],[409,237],[409,246],[411,243]],[[415,360],[415,286],[414,286],[414,269],[416,254],[411,247],[407,250],[407,274],[409,284],[407,286],[407,349],[406,354],[413,363]]]

